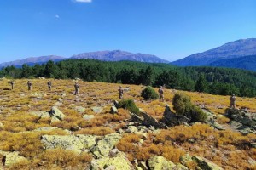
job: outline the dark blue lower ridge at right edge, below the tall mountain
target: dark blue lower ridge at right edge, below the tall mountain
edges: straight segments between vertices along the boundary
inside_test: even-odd
[[[212,62],[209,66],[230,67],[245,69],[248,71],[256,71],[256,55],[233,58],[233,59],[218,59]]]

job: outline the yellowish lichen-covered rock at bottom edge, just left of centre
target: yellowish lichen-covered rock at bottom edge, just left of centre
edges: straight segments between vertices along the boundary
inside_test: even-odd
[[[126,158],[125,153],[119,152],[114,157],[102,157],[97,160],[91,161],[90,169],[115,169],[115,170],[132,170],[134,169],[131,162]]]

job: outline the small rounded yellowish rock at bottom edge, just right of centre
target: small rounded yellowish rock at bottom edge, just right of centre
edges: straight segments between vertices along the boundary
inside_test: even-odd
[[[176,165],[163,156],[151,156],[148,159],[148,167],[150,170],[172,170]]]

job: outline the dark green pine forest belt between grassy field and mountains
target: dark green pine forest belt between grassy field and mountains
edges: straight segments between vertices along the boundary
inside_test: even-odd
[[[0,77],[56,79],[81,78],[89,82],[119,82],[151,86],[166,85],[209,94],[256,96],[256,73],[215,67],[177,67],[131,61],[103,62],[93,59],[68,59],[43,65],[8,66]]]

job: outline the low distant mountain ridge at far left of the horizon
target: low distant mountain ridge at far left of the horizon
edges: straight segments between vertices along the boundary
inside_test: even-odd
[[[41,57],[30,57],[30,58],[26,58],[26,59],[19,59],[19,60],[15,60],[15,61],[2,63],[2,64],[0,64],[0,68],[6,67],[6,66],[9,66],[9,65],[14,65],[14,66],[21,66],[23,64],[35,65],[35,64],[46,63],[49,60],[60,61],[60,60],[63,60],[63,59],[66,59],[66,58],[61,57],[61,56],[56,56],[56,55],[41,56]]]

